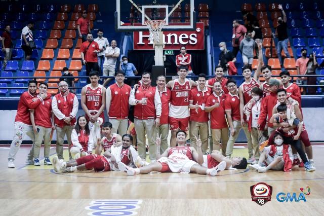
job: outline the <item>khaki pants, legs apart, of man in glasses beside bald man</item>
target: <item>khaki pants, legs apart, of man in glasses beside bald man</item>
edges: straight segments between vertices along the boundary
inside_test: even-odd
[[[249,152],[249,157],[251,158],[253,156],[253,147],[252,147],[251,133],[249,131],[248,125],[242,127],[240,121],[233,121],[233,126],[234,126],[235,133],[234,136],[232,135],[229,136],[227,147],[226,147],[226,157],[232,157],[234,142],[238,137],[239,131],[243,129],[248,140],[248,152]]]

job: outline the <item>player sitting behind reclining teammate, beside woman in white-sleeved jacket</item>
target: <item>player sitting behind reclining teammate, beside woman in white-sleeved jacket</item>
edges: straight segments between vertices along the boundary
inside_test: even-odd
[[[117,142],[121,142],[121,136],[117,133],[112,133],[112,124],[105,122],[102,124],[103,137],[100,141],[99,147],[96,148],[96,154],[101,155],[102,149],[104,152],[108,151]]]

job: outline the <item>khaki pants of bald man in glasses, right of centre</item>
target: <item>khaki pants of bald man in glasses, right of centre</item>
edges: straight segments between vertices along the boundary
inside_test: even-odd
[[[212,137],[213,137],[213,146],[211,152],[213,150],[222,149],[222,154],[226,156],[226,146],[228,142],[228,127],[222,129],[212,129]],[[222,144],[220,143],[222,141]]]

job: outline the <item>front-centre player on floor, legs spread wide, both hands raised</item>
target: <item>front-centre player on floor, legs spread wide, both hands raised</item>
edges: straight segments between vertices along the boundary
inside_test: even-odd
[[[151,171],[158,172],[194,172],[203,175],[215,176],[218,171],[222,171],[226,167],[226,162],[220,162],[214,168],[202,167],[199,164],[204,163],[203,153],[201,152],[201,140],[197,139],[198,153],[193,147],[187,147],[186,132],[179,130],[176,134],[177,147],[168,148],[160,155],[161,136],[157,134],[156,138],[156,158],[157,162],[150,163],[140,168],[132,168],[123,162],[118,163],[120,171],[126,171],[128,175],[147,174]]]

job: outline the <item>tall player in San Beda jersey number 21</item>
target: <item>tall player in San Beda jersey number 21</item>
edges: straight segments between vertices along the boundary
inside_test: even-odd
[[[167,88],[171,89],[171,100],[169,109],[169,124],[171,129],[170,146],[176,146],[176,133],[178,130],[188,131],[189,126],[189,92],[197,86],[192,80],[186,79],[188,68],[180,66],[179,78],[167,83]]]

